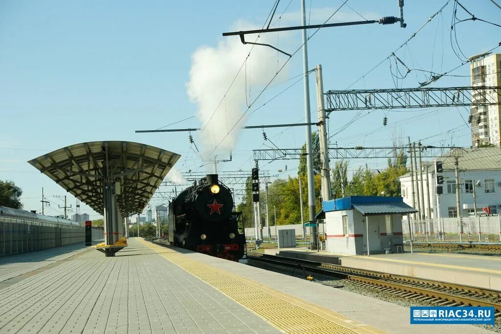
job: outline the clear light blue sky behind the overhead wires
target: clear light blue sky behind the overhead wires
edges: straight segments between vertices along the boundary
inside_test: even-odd
[[[396,0],[350,0],[347,5],[367,19],[378,19],[398,16],[396,3]],[[309,42],[309,67],[322,64],[326,90],[345,89],[389,56],[445,3],[406,1],[406,29],[398,25],[322,29]],[[460,64],[450,46],[452,3],[450,1],[441,14],[396,53],[409,67],[444,72]],[[53,196],[65,195],[65,192],[27,161],[66,145],[93,140],[143,142],[181,154],[178,168],[182,172],[204,170],[205,167],[200,168],[203,162],[190,149],[186,132],[137,134],[134,130],[155,129],[195,115],[200,106],[190,101],[187,88],[193,54],[200,48],[216,50],[221,43],[226,43],[228,48],[233,47],[232,43],[239,45],[238,37],[223,38],[221,33],[242,27],[261,27],[273,4],[274,1],[0,2],[0,179],[12,180],[23,189],[26,210],[40,210],[40,193],[44,187],[46,197],[54,203],[47,213],[56,215],[61,210],[55,207],[62,203]],[[311,24],[323,23],[341,4],[334,0],[312,0],[310,14],[310,1],[307,1]],[[501,10],[488,0],[463,0],[461,4],[478,18],[501,22]],[[299,0],[282,0],[274,26],[299,25],[300,8]],[[352,9],[343,7],[330,22],[363,20]],[[468,15],[458,10],[458,17],[466,19]],[[458,43],[467,56],[489,50],[501,41],[501,28],[478,21],[466,21],[456,29]],[[289,53],[302,44],[299,32],[269,38]],[[238,47],[245,48],[240,49],[245,52],[252,48],[249,45]],[[501,52],[499,48],[496,51]],[[259,52],[253,50],[248,68],[239,74],[241,80],[245,80],[242,79],[245,74],[249,77],[246,91],[249,101],[255,99],[256,93],[275,75],[268,68],[260,68]],[[270,51],[261,57],[273,57],[275,61],[277,56]],[[226,70],[231,70],[230,55],[225,59],[222,52],[219,58],[223,65],[227,61]],[[278,56],[278,59],[281,66],[287,57]],[[241,62],[243,60],[241,57]],[[394,70],[395,65],[392,66]],[[203,78],[205,71],[209,76],[208,68],[202,67],[197,73]],[[260,77],[251,81],[256,73]],[[301,52],[298,52],[250,111],[296,82],[297,79],[287,80],[302,73]],[[468,65],[452,74],[464,77],[443,77],[433,86],[469,84]],[[415,87],[424,80],[422,73],[413,71],[399,85]],[[205,93],[212,94],[217,101],[222,98],[217,97],[221,89],[224,90],[222,87],[229,84],[220,79],[217,85],[211,85],[209,77],[204,83]],[[312,76],[312,110],[316,108],[314,84]],[[385,61],[351,88],[392,87],[389,61]],[[241,97],[245,96],[245,91],[230,94]],[[386,112],[388,126],[384,128],[381,125],[385,112],[365,113],[333,136],[332,143],[337,142],[340,146],[389,145],[392,133],[397,131],[412,140],[430,137],[423,140],[425,144],[471,145],[469,129],[461,118],[467,118],[468,111],[464,108],[390,111]],[[333,113],[329,124],[332,133],[354,116],[352,111]],[[212,121],[222,122],[216,118]],[[303,85],[299,81],[247,115],[245,124],[294,123],[303,118]],[[199,126],[201,121],[191,118],[171,127]],[[450,129],[454,130],[448,131]],[[277,128],[266,132],[282,148],[300,147],[305,140],[304,128]],[[199,148],[210,146],[198,134],[194,133],[194,137]],[[252,149],[266,148],[265,144],[268,143],[263,140],[262,130],[241,131],[234,142],[233,161],[221,164],[219,169],[250,169]],[[385,161],[352,161],[350,169],[360,163],[378,168],[384,166]],[[286,164],[289,173],[297,173],[297,161],[262,162],[261,167],[277,174]],[[286,175],[281,174],[282,177]],[[74,203],[73,197],[68,196],[69,203]],[[83,210],[90,213],[91,218],[97,218],[89,208]]]

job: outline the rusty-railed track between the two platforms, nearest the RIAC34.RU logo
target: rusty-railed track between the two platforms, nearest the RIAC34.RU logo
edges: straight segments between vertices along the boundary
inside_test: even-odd
[[[267,263],[272,267],[293,268],[294,271],[299,269],[305,276],[321,275],[324,279],[335,277],[340,283],[343,280],[349,280],[361,287],[374,288],[395,296],[437,306],[493,306],[496,317],[501,315],[501,291],[260,253],[248,252],[247,254],[250,260]]]

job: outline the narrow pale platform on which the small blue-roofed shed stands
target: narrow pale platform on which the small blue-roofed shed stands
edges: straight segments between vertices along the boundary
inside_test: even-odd
[[[267,254],[433,281],[501,290],[501,257],[454,253],[340,255],[306,249],[266,250]]]

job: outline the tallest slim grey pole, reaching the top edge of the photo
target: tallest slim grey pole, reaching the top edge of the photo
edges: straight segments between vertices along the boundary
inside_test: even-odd
[[[301,12],[303,26],[306,26],[306,5],[305,0],[301,0]],[[306,39],[306,29],[303,29],[303,72],[305,74],[303,79],[304,93],[305,93],[305,122],[311,123],[310,114],[310,82],[309,82],[309,68],[308,68],[308,47]],[[306,126],[306,174],[308,176],[308,213],[309,220],[315,217],[315,180],[313,177],[313,150],[312,150],[312,128],[310,125]]]

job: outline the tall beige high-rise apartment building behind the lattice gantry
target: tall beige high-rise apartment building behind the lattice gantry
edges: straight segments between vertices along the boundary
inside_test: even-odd
[[[501,86],[501,54],[483,53],[469,58],[471,61],[471,86]],[[471,142],[473,146],[501,142],[501,89],[479,90],[472,96],[473,102],[492,97],[497,105],[471,107]]]

